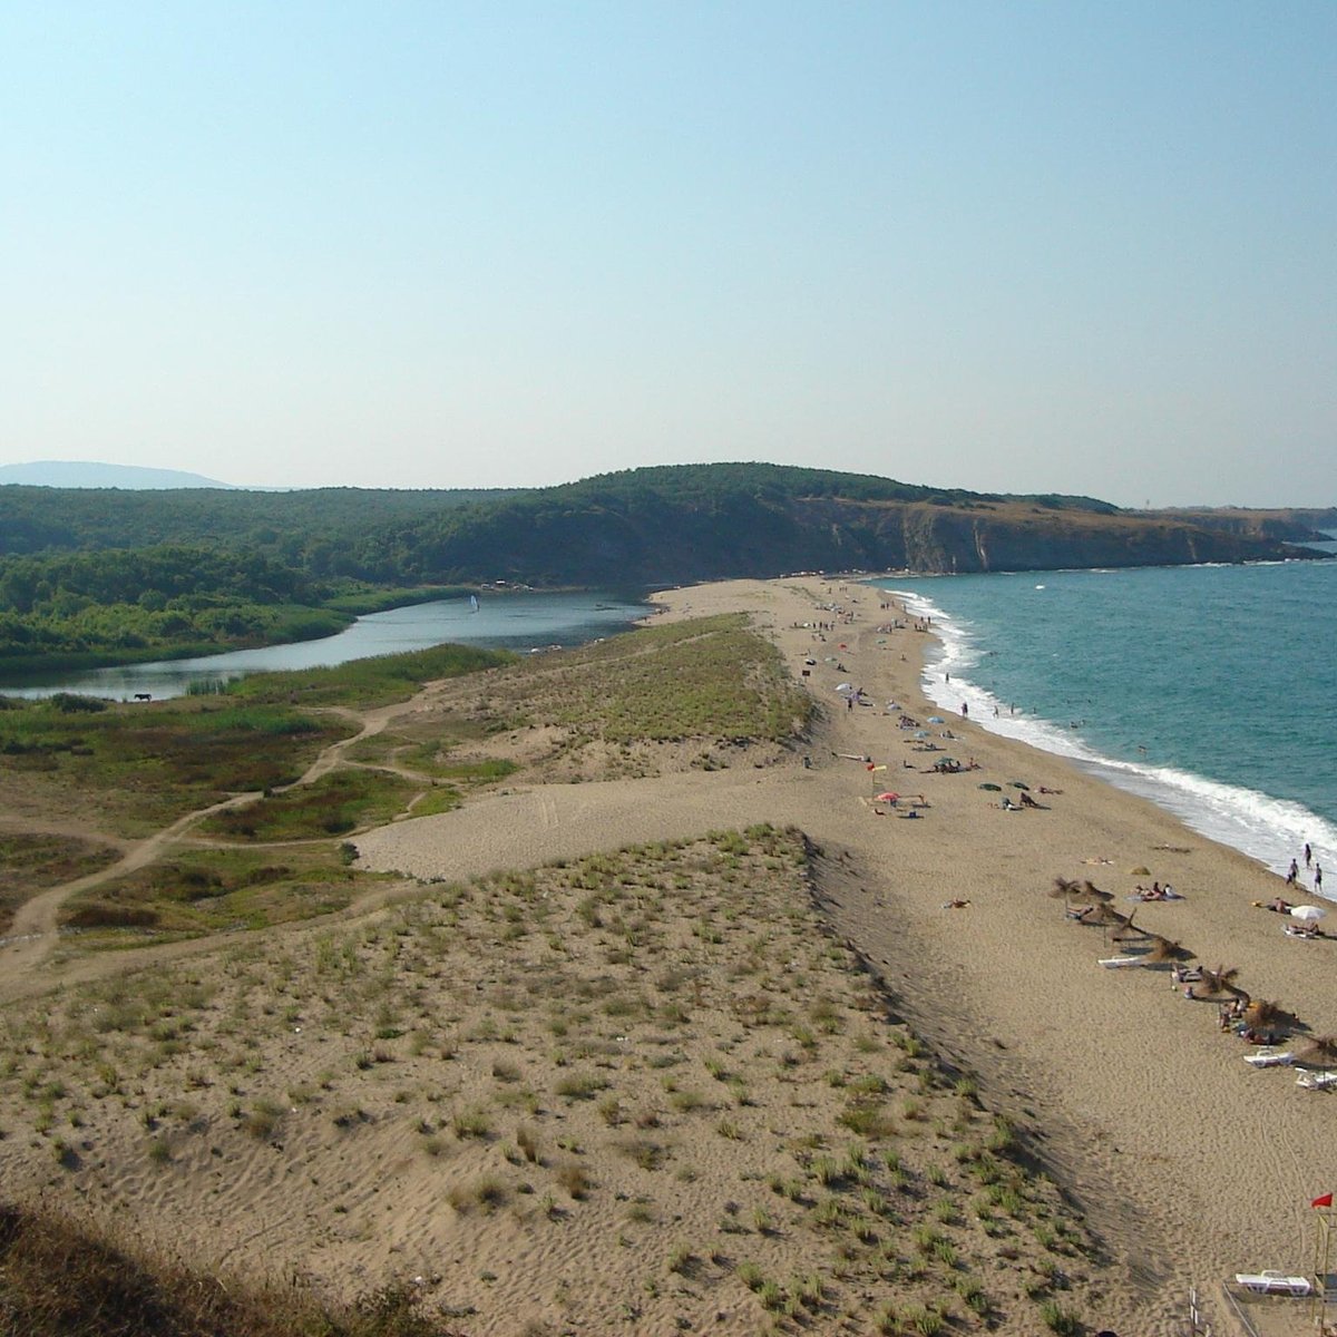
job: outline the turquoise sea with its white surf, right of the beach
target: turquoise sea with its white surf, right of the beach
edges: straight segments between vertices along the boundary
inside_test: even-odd
[[[1316,544],[1317,547],[1317,544]],[[1337,554],[1337,541],[1322,544]],[[1072,759],[1337,897],[1337,560],[876,582],[944,713]]]

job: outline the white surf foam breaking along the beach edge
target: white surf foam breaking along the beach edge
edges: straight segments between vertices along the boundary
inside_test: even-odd
[[[1308,841],[1320,857],[1333,853],[1333,876],[1337,878],[1337,826],[1304,804],[1173,766],[1148,766],[1107,757],[1082,737],[1082,721],[1055,722],[1013,714],[1008,702],[999,701],[969,678],[969,670],[987,654],[975,639],[971,624],[953,619],[919,591],[892,592],[904,600],[913,616],[933,619],[937,640],[925,655],[923,681],[929,701],[957,714],[965,703],[971,721],[981,729],[1067,757],[1098,778],[1174,813],[1209,840],[1257,858],[1273,872],[1285,873],[1296,850]],[[1330,898],[1337,898],[1337,881]]]

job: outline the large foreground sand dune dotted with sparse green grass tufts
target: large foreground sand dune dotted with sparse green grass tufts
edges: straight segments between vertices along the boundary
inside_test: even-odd
[[[488,1330],[537,1322],[554,1285],[591,1330],[627,1306],[647,1330],[738,1306],[758,1330],[805,1313],[865,1330],[878,1306],[900,1316],[888,1332],[1078,1312],[1098,1277],[1080,1222],[1024,1134],[889,1019],[808,876],[798,833],[719,832],[433,886],[364,924],[12,1009],[11,1182],[88,1193],[99,1163],[172,1177],[142,1222],[168,1233],[281,1201],[286,1217],[303,1194],[294,1221],[346,1262],[428,1174],[416,1243],[461,1259],[433,1294]],[[180,1178],[278,1147],[290,1177],[245,1206]],[[353,1165],[377,1170],[350,1210]],[[612,1270],[610,1213],[628,1263]],[[558,1229],[562,1274],[499,1314],[475,1259]],[[266,1257],[308,1245],[305,1227],[266,1237]]]

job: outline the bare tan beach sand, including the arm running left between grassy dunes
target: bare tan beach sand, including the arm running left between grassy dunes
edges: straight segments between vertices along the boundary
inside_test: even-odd
[[[872,588],[730,582],[659,599],[664,618],[747,608],[796,673],[809,667],[825,715],[812,770],[796,757],[758,775],[517,794],[388,828],[360,842],[364,857],[457,876],[501,857],[488,834],[499,826],[516,833],[525,862],[619,834],[679,836],[702,821],[796,822],[829,858],[826,906],[840,932],[885,968],[933,1043],[980,1074],[991,1103],[1043,1131],[1046,1158],[1130,1269],[1163,1297],[1186,1297],[1191,1285],[1215,1290],[1238,1270],[1304,1269],[1313,1251],[1309,1202],[1330,1187],[1324,1098],[1297,1090],[1286,1070],[1253,1070],[1247,1047],[1219,1032],[1217,1008],[1186,1001],[1166,973],[1100,968],[1118,945],[1066,920],[1046,894],[1058,876],[1091,878],[1127,913],[1136,884],[1170,882],[1185,898],[1138,905],[1139,924],[1205,964],[1237,967],[1249,992],[1329,1035],[1337,943],[1289,939],[1281,916],[1253,906],[1282,892],[1280,880],[1062,758],[968,721],[949,721],[951,755],[980,769],[924,774],[941,754],[912,751],[900,711],[886,713],[896,702],[923,722],[937,709],[919,690],[923,634],[878,632],[893,614]],[[806,624],[837,618],[824,604],[850,616],[818,639]],[[846,709],[834,691],[842,682],[861,686],[873,706]],[[841,754],[886,769],[869,771]],[[1013,779],[1047,810],[1004,812],[997,794],[979,789]],[[1062,793],[1042,796],[1040,786]],[[931,806],[916,821],[885,808],[876,816],[870,798],[884,787],[923,793]],[[969,905],[944,908],[953,900]]]

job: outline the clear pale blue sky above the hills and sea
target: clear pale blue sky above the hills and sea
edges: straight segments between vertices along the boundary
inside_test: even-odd
[[[1337,501],[1337,4],[0,3],[0,463]]]

